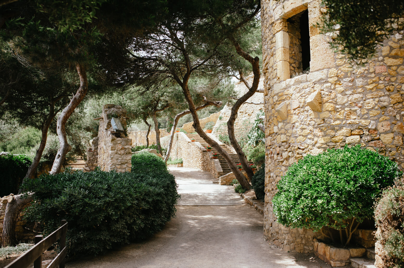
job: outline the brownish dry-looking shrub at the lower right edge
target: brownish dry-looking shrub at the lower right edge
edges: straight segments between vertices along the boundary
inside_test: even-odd
[[[385,267],[404,267],[404,185],[398,184],[383,191],[375,208],[378,231],[376,239],[383,251]]]

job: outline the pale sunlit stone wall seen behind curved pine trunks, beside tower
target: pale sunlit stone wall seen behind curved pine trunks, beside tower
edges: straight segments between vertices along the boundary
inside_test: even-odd
[[[252,84],[253,76],[246,77],[246,80],[251,85]],[[261,77],[258,88],[262,89],[264,87],[263,84],[263,77]],[[234,86],[234,90],[238,93],[238,96],[242,96],[244,93],[248,91],[247,87],[244,85],[243,82],[237,82]],[[254,93],[252,97],[250,97],[247,102],[255,102],[260,103],[264,101],[264,94],[263,93]],[[219,119],[216,121],[215,127],[213,127],[212,133],[215,134],[216,137],[219,135],[228,135],[227,133],[227,121],[231,115],[231,108],[232,105],[225,105],[221,110]],[[240,106],[237,113],[237,119],[234,122],[234,133],[236,138],[242,137],[246,135],[252,124],[254,123],[255,116],[260,109],[263,109],[264,105],[255,105],[255,104],[248,104],[244,103]]]

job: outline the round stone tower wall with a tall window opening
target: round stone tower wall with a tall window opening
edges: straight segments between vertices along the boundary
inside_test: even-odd
[[[307,154],[345,144],[379,150],[404,168],[404,20],[378,45],[374,58],[364,66],[351,66],[329,48],[330,37],[313,26],[326,12],[319,0],[262,0],[261,8],[267,137],[264,236],[278,247],[310,252],[317,234],[276,222],[271,203],[276,183]],[[307,8],[310,73],[290,79],[286,20]]]

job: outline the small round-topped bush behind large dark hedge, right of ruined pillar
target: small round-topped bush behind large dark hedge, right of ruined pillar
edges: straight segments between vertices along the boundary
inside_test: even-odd
[[[140,152],[132,156],[132,172],[167,172],[164,160],[149,152]]]

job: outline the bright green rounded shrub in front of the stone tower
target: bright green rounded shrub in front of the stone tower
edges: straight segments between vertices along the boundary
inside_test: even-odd
[[[278,182],[274,213],[288,227],[345,229],[349,234],[372,218],[375,199],[401,175],[395,162],[360,145],[308,155],[291,165]],[[349,243],[349,238],[342,240]]]

